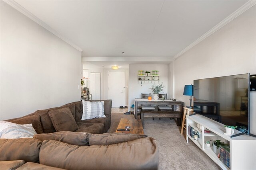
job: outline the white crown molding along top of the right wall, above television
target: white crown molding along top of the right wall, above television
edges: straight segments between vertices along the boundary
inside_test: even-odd
[[[254,6],[256,4],[256,0],[250,0],[248,2],[246,2],[243,6],[241,6],[240,8],[238,8],[235,12],[233,12],[232,14],[230,14],[230,16],[228,16],[227,18],[225,18],[224,20],[220,21],[220,23],[218,23],[217,25],[215,25],[212,29],[210,29],[208,32],[206,32],[204,35],[202,35],[201,37],[199,37],[196,41],[194,41],[193,43],[191,43],[190,45],[188,45],[188,47],[186,47],[185,49],[183,49],[182,51],[180,51],[180,53],[176,54],[174,56],[174,60],[178,57],[180,57],[182,54],[186,53],[186,51],[188,51],[189,49],[191,49],[192,47],[194,47],[195,45],[197,45],[198,43],[200,43],[201,41],[203,41],[204,39],[206,39],[207,37],[209,37],[210,35],[212,35],[215,31],[217,31],[218,29],[222,28],[224,25],[226,25],[227,23],[229,23],[230,21],[234,20],[236,17],[240,16],[242,13],[244,13],[246,10],[248,10],[249,8],[251,8],[252,6]]]

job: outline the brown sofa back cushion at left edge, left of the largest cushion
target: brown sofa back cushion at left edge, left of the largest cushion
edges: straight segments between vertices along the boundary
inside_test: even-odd
[[[39,162],[42,141],[33,138],[0,139],[0,161]]]

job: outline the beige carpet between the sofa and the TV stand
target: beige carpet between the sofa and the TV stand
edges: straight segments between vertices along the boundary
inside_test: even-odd
[[[121,118],[134,119],[134,115],[112,113],[109,133],[115,132]],[[192,141],[186,143],[180,129],[168,118],[154,121],[145,118],[144,133],[158,141],[160,170],[220,170]]]

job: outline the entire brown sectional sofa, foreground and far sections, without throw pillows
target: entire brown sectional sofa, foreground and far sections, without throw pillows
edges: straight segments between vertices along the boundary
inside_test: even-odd
[[[78,129],[56,132],[50,111],[68,107]],[[7,121],[32,123],[34,138],[0,139],[0,167],[38,170],[156,170],[159,150],[146,135],[106,133],[112,100],[104,100],[104,118],[82,121],[82,102],[38,110]]]

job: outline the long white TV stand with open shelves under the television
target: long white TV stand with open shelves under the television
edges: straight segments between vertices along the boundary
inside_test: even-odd
[[[202,125],[202,129],[206,128],[212,131],[211,133],[204,133],[204,130],[197,128],[197,123]],[[191,126],[199,132],[198,141],[194,140],[188,135],[188,126]],[[187,115],[186,123],[186,140],[191,139],[200,149],[202,149],[220,168],[223,170],[255,170],[256,169],[256,138],[249,135],[241,135],[230,138],[224,135],[225,127],[222,123],[209,119],[205,116],[196,114]],[[234,134],[240,131],[235,130]],[[214,153],[212,145],[206,146],[206,141],[215,141],[219,139],[221,142],[230,142],[230,168],[220,161],[217,154]]]

